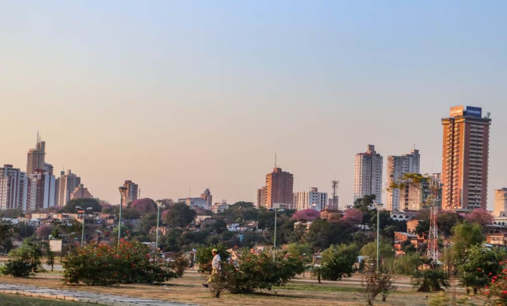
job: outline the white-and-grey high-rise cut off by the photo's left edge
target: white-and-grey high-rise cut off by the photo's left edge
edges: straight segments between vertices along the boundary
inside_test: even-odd
[[[26,210],[28,179],[25,172],[12,165],[0,168],[0,209]]]

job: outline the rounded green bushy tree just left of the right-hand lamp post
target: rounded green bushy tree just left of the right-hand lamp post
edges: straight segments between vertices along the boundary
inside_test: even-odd
[[[331,245],[322,252],[321,276],[324,280],[337,281],[344,275],[350,277],[355,272],[354,263],[357,258],[355,244]]]

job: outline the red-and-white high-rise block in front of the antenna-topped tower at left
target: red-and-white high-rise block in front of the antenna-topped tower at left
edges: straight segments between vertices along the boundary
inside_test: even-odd
[[[28,175],[26,210],[55,206],[55,176],[37,169]]]

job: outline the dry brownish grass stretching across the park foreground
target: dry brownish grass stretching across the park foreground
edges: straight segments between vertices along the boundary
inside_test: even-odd
[[[308,278],[309,279],[309,278]],[[209,306],[224,305],[365,305],[359,289],[354,286],[340,284],[301,284],[291,283],[290,289],[276,288],[258,294],[223,294],[220,299],[211,297],[208,289],[201,284],[205,278],[196,273],[188,273],[183,278],[171,280],[167,285],[122,285],[118,287],[91,287],[85,285],[66,285],[59,280],[58,275],[44,274],[37,278],[2,277],[0,282],[20,285],[41,286],[49,288],[64,288],[83,290],[114,295],[172,300]],[[315,286],[319,286],[316,290]],[[377,301],[376,304],[389,305],[426,305],[428,294],[410,290],[397,291],[388,296],[387,302]],[[429,297],[435,294],[429,294]]]

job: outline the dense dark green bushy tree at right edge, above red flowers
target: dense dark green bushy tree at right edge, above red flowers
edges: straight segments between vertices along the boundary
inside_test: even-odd
[[[479,245],[466,248],[463,262],[458,266],[459,280],[465,287],[478,289],[489,284],[490,275],[498,275],[507,252],[500,248],[486,249]],[[468,290],[468,289],[467,289]]]

